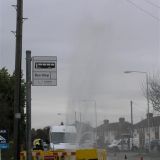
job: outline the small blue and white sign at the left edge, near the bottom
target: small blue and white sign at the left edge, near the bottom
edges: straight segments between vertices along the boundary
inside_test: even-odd
[[[0,130],[0,149],[8,148],[8,133],[6,129]]]

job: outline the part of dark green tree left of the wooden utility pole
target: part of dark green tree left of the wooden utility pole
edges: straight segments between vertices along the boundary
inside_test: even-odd
[[[14,78],[7,69],[0,70],[0,124],[7,128],[10,137],[13,137],[13,105],[14,105]],[[12,96],[13,95],[13,96]]]

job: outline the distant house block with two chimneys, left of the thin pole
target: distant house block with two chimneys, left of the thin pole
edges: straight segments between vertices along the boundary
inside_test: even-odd
[[[125,118],[119,118],[119,122],[109,123],[109,120],[104,120],[104,123],[97,127],[97,137],[104,143],[111,143],[115,139],[120,139],[122,136],[129,137],[131,133],[131,123],[125,121]]]

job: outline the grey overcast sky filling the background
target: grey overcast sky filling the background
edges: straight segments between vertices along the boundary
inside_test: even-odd
[[[0,0],[0,67],[10,72],[13,4],[16,0]],[[145,117],[145,75],[123,72],[159,72],[160,0],[24,0],[24,17],[29,18],[23,23],[24,75],[26,50],[58,59],[58,85],[32,87],[32,127],[59,124],[66,115],[73,120],[75,112],[78,120],[81,113],[93,121],[94,102],[98,124],[119,117],[130,121],[130,100],[134,122]]]

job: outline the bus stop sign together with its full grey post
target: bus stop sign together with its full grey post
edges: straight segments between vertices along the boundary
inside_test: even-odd
[[[32,82],[31,82],[32,61]],[[33,86],[57,85],[57,57],[38,56],[31,58],[31,51],[26,51],[26,144],[27,160],[32,159],[31,153],[31,83]]]

